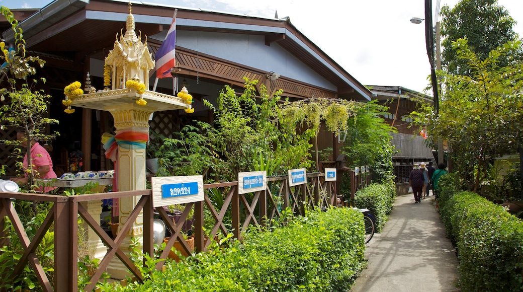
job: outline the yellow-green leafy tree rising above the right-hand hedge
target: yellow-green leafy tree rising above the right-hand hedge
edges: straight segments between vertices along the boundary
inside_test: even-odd
[[[457,59],[468,65],[472,77],[444,73],[439,116],[423,104],[413,112],[418,125],[448,142],[454,171],[474,192],[487,177],[490,160],[518,151],[523,143],[523,62],[514,54],[520,46],[520,41],[509,41],[482,60],[467,39],[453,42]]]

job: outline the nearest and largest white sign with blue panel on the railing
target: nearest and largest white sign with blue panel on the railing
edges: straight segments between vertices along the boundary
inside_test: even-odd
[[[201,175],[152,177],[153,207],[203,201]]]

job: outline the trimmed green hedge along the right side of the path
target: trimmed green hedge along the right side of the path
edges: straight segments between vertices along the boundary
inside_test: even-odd
[[[441,219],[458,248],[462,291],[523,289],[523,222],[502,206],[470,192],[439,200]]]

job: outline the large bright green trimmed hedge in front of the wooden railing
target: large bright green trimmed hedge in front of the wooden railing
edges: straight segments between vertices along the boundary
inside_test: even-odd
[[[107,291],[347,291],[365,264],[362,215],[310,211],[243,242],[167,263],[144,284]]]

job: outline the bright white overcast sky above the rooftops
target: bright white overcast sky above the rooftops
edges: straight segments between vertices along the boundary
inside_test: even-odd
[[[0,0],[8,8],[41,8],[50,0]],[[124,1],[125,2],[125,1]],[[134,1],[133,1],[134,2]],[[205,8],[273,18],[291,23],[364,85],[402,86],[423,92],[430,74],[422,0],[149,0],[149,3]],[[454,7],[458,0],[440,0]],[[518,24],[523,37],[523,0],[498,0]],[[437,0],[433,0],[436,9]],[[436,19],[436,14],[434,14]],[[428,94],[431,94],[430,92]]]

